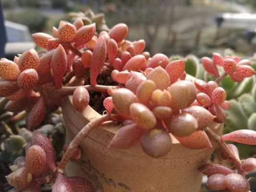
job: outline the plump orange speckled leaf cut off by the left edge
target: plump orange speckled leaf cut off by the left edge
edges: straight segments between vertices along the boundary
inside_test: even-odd
[[[16,80],[20,74],[18,65],[11,60],[0,60],[0,78]]]

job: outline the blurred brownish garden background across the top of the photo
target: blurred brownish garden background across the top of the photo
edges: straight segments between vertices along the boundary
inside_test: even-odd
[[[128,24],[128,39],[144,38],[152,54],[192,53],[200,57],[232,48],[248,56],[256,50],[254,14],[255,25],[243,24],[242,20],[230,24],[220,18],[224,12],[253,13],[255,0],[2,0],[2,6],[7,21],[26,25],[30,33],[51,33],[51,26],[58,26],[68,12],[91,8],[105,14],[109,27]],[[12,27],[10,22],[6,25]],[[9,33],[7,36],[9,41],[17,38]],[[24,36],[24,41],[29,38]]]

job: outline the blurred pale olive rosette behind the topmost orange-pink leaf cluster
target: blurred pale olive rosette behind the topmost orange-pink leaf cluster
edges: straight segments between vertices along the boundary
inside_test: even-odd
[[[80,18],[84,25],[86,24],[96,24],[97,32],[109,31],[109,27],[106,24],[104,13],[95,14],[91,9],[86,12],[70,12],[68,16],[71,18],[72,22]]]

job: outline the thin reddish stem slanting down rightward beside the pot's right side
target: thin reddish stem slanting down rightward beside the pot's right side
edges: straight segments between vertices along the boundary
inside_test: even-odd
[[[223,151],[223,153],[226,154],[226,156],[229,156],[234,164],[234,166],[238,169],[239,173],[241,175],[245,175],[244,171],[241,169],[241,165],[242,162],[239,158],[237,158],[232,151],[230,150],[230,148],[227,146],[227,144],[225,144],[219,137],[218,134],[216,134],[215,132],[213,132],[210,128],[206,128],[205,129],[206,134],[208,135],[209,138],[211,138],[213,141],[215,141],[217,144],[219,144],[221,150]]]

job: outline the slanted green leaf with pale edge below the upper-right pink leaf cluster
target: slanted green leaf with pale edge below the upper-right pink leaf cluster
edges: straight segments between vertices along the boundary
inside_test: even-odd
[[[233,98],[249,93],[253,88],[253,77],[245,78],[231,93]]]

